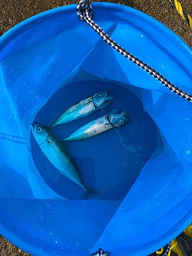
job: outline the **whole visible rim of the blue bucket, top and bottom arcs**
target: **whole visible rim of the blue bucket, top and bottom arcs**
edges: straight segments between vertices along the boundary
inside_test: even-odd
[[[2,49],[9,44],[11,40],[13,40],[16,36],[18,36],[20,33],[24,32],[25,30],[39,24],[42,22],[45,22],[46,20],[56,18],[58,16],[62,16],[68,13],[75,13],[76,14],[76,4],[73,5],[68,5],[68,6],[62,6],[58,8],[54,8],[39,14],[36,14],[23,22],[17,24],[13,28],[11,28],[9,31],[7,31],[4,35],[1,36],[0,38],[0,55]],[[189,46],[172,30],[158,22],[155,18],[139,11],[131,7],[127,6],[122,6],[119,4],[113,4],[113,3],[93,3],[92,4],[93,11],[98,11],[98,10],[106,10],[106,11],[114,11],[114,12],[124,12],[126,14],[135,16],[139,18],[140,20],[145,20],[145,22],[149,23],[150,25],[153,24],[155,28],[158,31],[162,31],[165,36],[170,37],[170,39],[175,40],[176,42],[178,41],[178,44],[182,44],[186,50],[188,50],[192,54],[192,50],[189,48]],[[77,16],[77,15],[76,15]],[[78,17],[77,17],[78,19]],[[85,26],[87,24],[85,23]],[[192,193],[190,194],[192,197]],[[187,212],[187,214],[184,216],[184,218],[178,223],[177,226],[174,226],[172,229],[170,229],[167,233],[164,234],[164,242],[162,241],[153,241],[146,246],[145,248],[145,253],[152,253],[153,249],[156,248],[157,250],[159,247],[164,246],[166,243],[170,242],[170,240],[173,240],[178,234],[180,234],[192,221],[191,219],[192,216],[192,208],[190,211]],[[1,217],[0,217],[1,219]],[[187,226],[186,226],[187,223]],[[1,233],[3,236],[8,239],[11,243],[15,244],[16,246],[19,246],[22,248],[24,251],[28,251],[28,253],[32,253],[34,256],[35,255],[40,255],[42,254],[42,251],[39,250],[39,247],[33,244],[32,242],[28,241],[25,239],[25,237],[22,236],[17,236],[15,232],[1,219],[0,222],[0,227],[1,227]],[[162,239],[162,237],[161,237]],[[165,244],[164,244],[165,243]],[[158,247],[158,248],[157,248]],[[141,247],[140,247],[141,248]],[[45,248],[44,248],[45,249]],[[103,248],[105,249],[105,248]],[[51,251],[47,250],[48,253],[52,253]],[[111,253],[113,255],[113,253]],[[143,252],[138,252],[138,255],[143,255]],[[60,255],[66,255],[65,252],[63,254],[61,253]],[[124,253],[126,255],[126,253]],[[146,254],[147,255],[147,254]]]

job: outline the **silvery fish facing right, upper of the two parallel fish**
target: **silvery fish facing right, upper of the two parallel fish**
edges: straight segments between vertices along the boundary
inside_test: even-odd
[[[106,108],[113,99],[115,99],[115,97],[111,96],[109,89],[100,91],[92,97],[77,102],[64,111],[51,126],[47,126],[47,129],[50,130],[56,125],[72,122],[76,119],[88,116],[98,109]]]

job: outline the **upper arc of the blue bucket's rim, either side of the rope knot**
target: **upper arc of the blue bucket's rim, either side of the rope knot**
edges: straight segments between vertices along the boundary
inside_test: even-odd
[[[3,48],[7,44],[9,44],[11,40],[17,37],[20,33],[24,32],[25,30],[39,23],[45,22],[46,20],[50,20],[52,18],[56,18],[58,16],[69,14],[69,13],[75,13],[76,18],[79,19],[79,17],[76,14],[77,12],[76,7],[77,7],[77,4],[56,7],[54,9],[38,13],[18,23],[17,25],[9,29],[0,37],[0,55]],[[192,49],[186,44],[185,41],[183,41],[183,39],[181,39],[175,32],[167,28],[165,25],[160,23],[157,19],[151,17],[150,15],[144,12],[141,12],[129,6],[124,6],[120,4],[114,4],[114,3],[95,2],[95,3],[92,3],[92,7],[93,7],[92,8],[93,11],[106,10],[106,11],[114,11],[114,12],[120,12],[120,13],[123,12],[123,13],[129,14],[130,16],[136,17],[137,19],[140,19],[141,21],[144,21],[147,24],[150,24],[153,28],[155,25],[155,29],[158,32],[168,37],[169,40],[174,40],[175,44],[176,42],[178,42],[178,44],[182,44],[186,48],[186,50],[189,51],[190,54],[192,54]],[[87,26],[86,23],[85,25]],[[163,33],[162,33],[162,30],[163,30]]]

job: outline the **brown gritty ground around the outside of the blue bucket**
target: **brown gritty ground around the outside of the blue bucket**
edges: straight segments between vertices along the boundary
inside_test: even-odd
[[[130,6],[156,18],[177,33],[192,48],[192,29],[168,0],[108,0],[102,2]],[[0,36],[17,23],[37,13],[76,3],[75,0],[0,0]],[[187,14],[192,17],[191,1],[180,1],[180,3]],[[27,256],[28,254],[0,236],[0,255]]]

